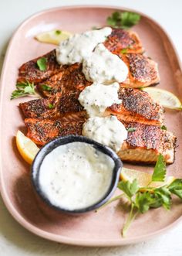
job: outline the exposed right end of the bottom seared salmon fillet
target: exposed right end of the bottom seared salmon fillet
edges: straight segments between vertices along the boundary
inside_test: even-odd
[[[143,125],[136,122],[125,124],[128,138],[117,154],[125,162],[155,163],[158,155],[163,155],[165,162],[174,162],[174,152],[177,138],[170,131],[161,130],[153,125]]]

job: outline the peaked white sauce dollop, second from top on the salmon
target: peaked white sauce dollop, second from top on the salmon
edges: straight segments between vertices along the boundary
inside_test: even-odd
[[[83,73],[86,80],[96,83],[121,83],[126,80],[128,67],[119,56],[99,43],[92,55],[83,60]]]

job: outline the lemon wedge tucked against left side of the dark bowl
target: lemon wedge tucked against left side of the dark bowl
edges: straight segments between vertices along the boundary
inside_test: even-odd
[[[35,159],[35,155],[39,152],[39,148],[35,143],[26,137],[22,131],[18,131],[16,134],[16,145],[19,149],[20,155],[22,155],[22,158],[26,162],[29,162],[29,164],[32,164],[33,159]]]

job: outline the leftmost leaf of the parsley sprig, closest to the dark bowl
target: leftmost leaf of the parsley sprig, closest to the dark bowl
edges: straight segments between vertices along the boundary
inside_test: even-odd
[[[131,200],[131,197],[138,191],[139,186],[137,180],[134,179],[132,183],[129,181],[124,182],[123,180],[118,183],[117,186],[120,190],[122,190],[126,196],[128,196]]]

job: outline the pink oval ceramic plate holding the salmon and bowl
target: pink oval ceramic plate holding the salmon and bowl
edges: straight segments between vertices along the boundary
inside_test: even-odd
[[[1,80],[1,193],[5,205],[12,216],[22,226],[52,241],[88,246],[113,246],[131,244],[146,240],[166,231],[181,219],[182,207],[178,200],[172,210],[150,210],[138,217],[130,228],[127,237],[120,236],[126,211],[120,204],[112,204],[99,213],[89,213],[71,217],[64,214],[52,219],[45,216],[32,193],[29,165],[19,155],[15,146],[18,129],[24,131],[23,118],[18,104],[28,101],[22,98],[10,101],[18,68],[25,61],[47,53],[54,46],[37,42],[36,34],[51,29],[64,29],[81,32],[93,26],[106,25],[106,17],[120,8],[77,6],[51,9],[27,19],[15,32],[5,56]],[[142,15],[140,24],[133,28],[138,32],[147,55],[159,64],[161,83],[165,88],[181,97],[181,71],[177,54],[170,39],[160,26]],[[179,90],[180,89],[180,90]],[[165,122],[170,131],[177,135],[176,160],[168,167],[170,175],[182,177],[182,118],[179,111],[167,111]],[[128,165],[126,165],[128,166]],[[134,166],[150,172],[152,167]]]

